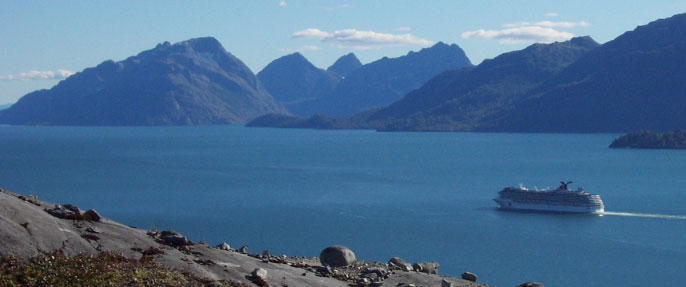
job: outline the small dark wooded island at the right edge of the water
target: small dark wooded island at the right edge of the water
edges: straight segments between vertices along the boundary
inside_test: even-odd
[[[612,141],[610,148],[686,149],[686,130],[630,132]]]

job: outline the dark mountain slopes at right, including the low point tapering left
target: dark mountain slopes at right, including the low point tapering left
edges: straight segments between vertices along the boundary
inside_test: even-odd
[[[249,126],[389,131],[624,132],[686,126],[686,14],[603,45],[534,44],[444,72],[401,100],[348,117],[266,115]]]

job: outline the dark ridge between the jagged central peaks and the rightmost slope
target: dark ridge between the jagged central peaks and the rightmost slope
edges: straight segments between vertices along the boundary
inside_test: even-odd
[[[590,37],[533,44],[474,68],[445,72],[368,121],[384,130],[479,129],[597,46]]]

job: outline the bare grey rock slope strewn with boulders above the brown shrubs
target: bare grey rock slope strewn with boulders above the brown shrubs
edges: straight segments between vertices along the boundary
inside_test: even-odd
[[[171,230],[141,230],[95,210],[0,189],[0,255],[28,259],[55,251],[66,256],[121,254],[189,272],[206,279],[208,286],[488,286],[469,272],[463,279],[438,275],[435,262],[355,260],[342,246],[323,250],[321,258],[251,254],[247,246],[235,250],[226,243],[212,247]]]

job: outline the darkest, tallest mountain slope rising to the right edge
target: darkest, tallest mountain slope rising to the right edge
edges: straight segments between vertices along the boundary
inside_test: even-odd
[[[588,53],[491,130],[665,131],[686,127],[686,14],[653,21]]]

